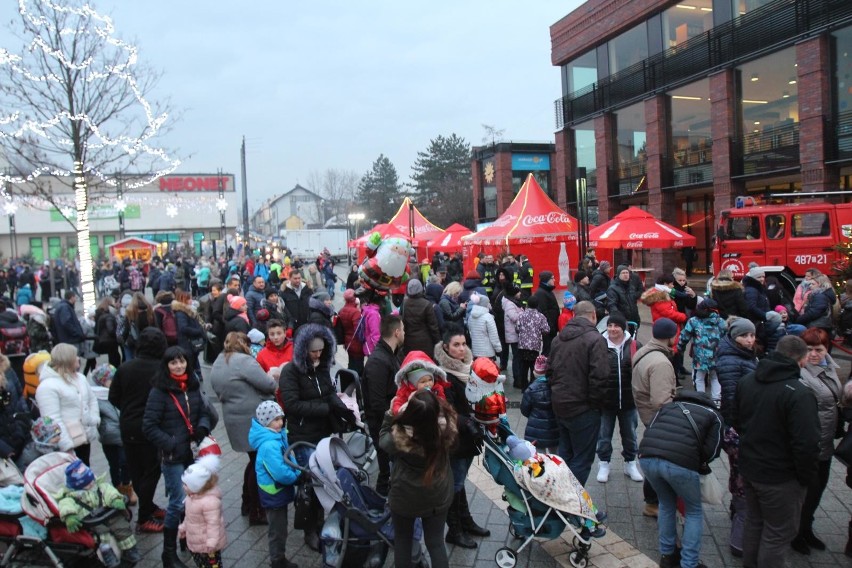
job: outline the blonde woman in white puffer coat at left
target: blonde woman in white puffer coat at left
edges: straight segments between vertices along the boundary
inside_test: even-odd
[[[89,465],[101,415],[95,393],[80,373],[77,348],[73,345],[60,343],[50,352],[50,362],[41,368],[36,404],[42,416],[59,424],[59,450],[73,451]]]

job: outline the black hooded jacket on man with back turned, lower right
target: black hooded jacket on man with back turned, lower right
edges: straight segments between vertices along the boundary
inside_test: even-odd
[[[816,479],[820,426],[816,397],[799,364],[777,351],[740,379],[734,428],[740,435],[740,473],[748,481],[778,484]]]

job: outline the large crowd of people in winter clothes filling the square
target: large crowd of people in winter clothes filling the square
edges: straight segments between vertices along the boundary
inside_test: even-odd
[[[505,375],[507,396],[527,417],[526,439],[558,454],[581,484],[595,458],[595,479],[609,481],[618,423],[624,475],[643,483],[643,514],[658,519],[661,566],[703,566],[702,478],[721,451],[731,466],[732,554],[746,566],[783,566],[790,548],[825,549],[814,514],[834,442],[852,418],[852,383],[844,387],[830,354],[834,306],[852,302],[852,290],[838,300],[830,279],[810,270],[787,297],[759,266],[741,282],[722,270],[706,294],[681,269],[646,287],[630,265],[613,270],[589,251],[559,298],[554,274],[536,273],[524,255],[480,254],[474,265],[464,272],[458,256],[440,253],[412,258],[411,278],[384,295],[361,285],[357,266],[338,276],[328,255],[105,263],[98,305],[82,316],[76,280],[48,276],[45,297],[43,276],[30,283],[27,266],[14,278],[9,269],[0,286],[17,288],[18,301],[3,306],[0,327],[7,319],[25,326],[31,350],[49,356],[34,404],[0,357],[0,386],[10,393],[0,457],[24,468],[37,455],[73,452],[82,464],[69,474],[76,488],[99,442],[112,485],[138,506],[136,531],[162,533],[163,565],[185,566],[182,538],[198,566],[221,565],[221,449],[210,437],[219,416],[206,381],[230,451],[246,454],[241,513],[268,526],[272,566],[292,567],[287,510],[301,475],[281,455],[360,422],[332,376],[345,352],[340,361],[362,378],[397,566],[412,562],[417,518],[433,566],[447,565],[445,542],[476,548],[490,534],[465,489],[485,435],[466,390]],[[20,294],[37,283],[42,301]],[[51,300],[60,290],[63,299]],[[639,304],[650,322],[640,321]],[[644,345],[643,324],[651,328]],[[98,365],[99,356],[108,363]],[[202,362],[211,365],[203,378]],[[37,420],[15,418],[34,412]],[[304,467],[310,454],[299,446],[294,457]],[[155,503],[161,477],[163,507]],[[316,501],[307,511],[298,527],[319,551],[324,511]],[[849,531],[852,555],[852,521]]]

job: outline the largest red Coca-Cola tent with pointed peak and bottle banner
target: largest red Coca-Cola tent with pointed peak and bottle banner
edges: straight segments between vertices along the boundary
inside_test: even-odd
[[[576,269],[580,262],[577,227],[577,219],[560,209],[530,174],[494,223],[462,237],[465,270],[473,268],[472,259],[480,251],[525,254],[536,274],[549,270],[558,277],[557,286],[566,288],[571,282],[571,267]]]

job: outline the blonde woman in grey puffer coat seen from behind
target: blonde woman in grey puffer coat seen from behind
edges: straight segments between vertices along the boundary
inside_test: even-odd
[[[245,333],[232,331],[225,337],[222,353],[213,362],[210,384],[222,402],[222,419],[231,448],[247,453],[249,463],[243,474],[243,515],[250,524],[266,524],[266,513],[260,505],[255,473],[257,452],[251,449],[248,433],[257,405],[272,400],[278,383],[263,372],[260,364],[250,355],[249,339]]]

